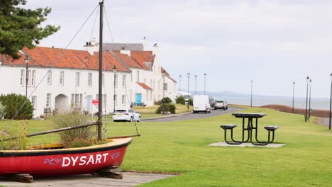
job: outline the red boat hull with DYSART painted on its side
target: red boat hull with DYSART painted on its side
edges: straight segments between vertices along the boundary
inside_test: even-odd
[[[67,176],[92,174],[121,165],[132,138],[114,139],[104,145],[71,149],[0,152],[0,176]]]

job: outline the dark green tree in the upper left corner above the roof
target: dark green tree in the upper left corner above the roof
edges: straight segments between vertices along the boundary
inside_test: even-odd
[[[22,8],[26,0],[1,0],[0,4],[0,53],[18,59],[23,47],[35,47],[39,40],[57,32],[60,27],[40,27],[51,8],[35,10]]]

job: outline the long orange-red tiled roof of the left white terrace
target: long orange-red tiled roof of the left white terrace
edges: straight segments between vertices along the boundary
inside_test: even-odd
[[[94,55],[90,55],[85,50],[65,50],[64,49],[52,48],[52,47],[35,47],[31,50],[24,48],[23,52],[28,55],[31,60],[29,66],[34,67],[54,67],[68,68],[68,69],[99,69],[99,52],[94,52]],[[18,55],[23,56],[21,53]],[[18,60],[8,55],[0,55],[0,59],[4,64],[7,65],[18,65],[25,66],[25,57],[21,57]],[[56,62],[56,63],[55,63]],[[116,65],[118,72],[128,72],[126,67],[116,60],[111,52],[103,52],[103,69],[105,71],[112,71],[114,65]]]

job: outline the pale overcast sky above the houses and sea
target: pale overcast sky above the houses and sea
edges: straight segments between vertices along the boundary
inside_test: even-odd
[[[42,46],[65,47],[98,4],[89,1],[28,0],[29,8],[52,8],[48,24],[61,26]],[[296,96],[306,94],[311,77],[312,97],[330,96],[332,72],[332,1],[118,1],[106,0],[114,42],[157,42],[160,60],[187,90],[236,91]],[[92,30],[96,14],[69,48],[98,38]],[[97,21],[98,23],[98,21]],[[107,27],[107,26],[106,26]],[[111,42],[108,29],[106,42]]]

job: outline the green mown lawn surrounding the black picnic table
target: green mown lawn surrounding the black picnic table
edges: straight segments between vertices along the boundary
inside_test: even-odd
[[[178,173],[179,176],[142,186],[331,186],[332,132],[304,123],[302,115],[265,108],[246,112],[267,113],[264,125],[279,125],[275,142],[280,148],[209,147],[223,141],[222,124],[240,125],[231,114],[172,123],[137,123],[141,137],[129,145],[124,170]],[[312,119],[312,118],[311,118]],[[50,120],[29,121],[29,132],[50,129]],[[134,123],[107,122],[109,136],[135,134]],[[236,135],[240,131],[235,132]],[[56,135],[32,137],[31,142],[51,142]]]

